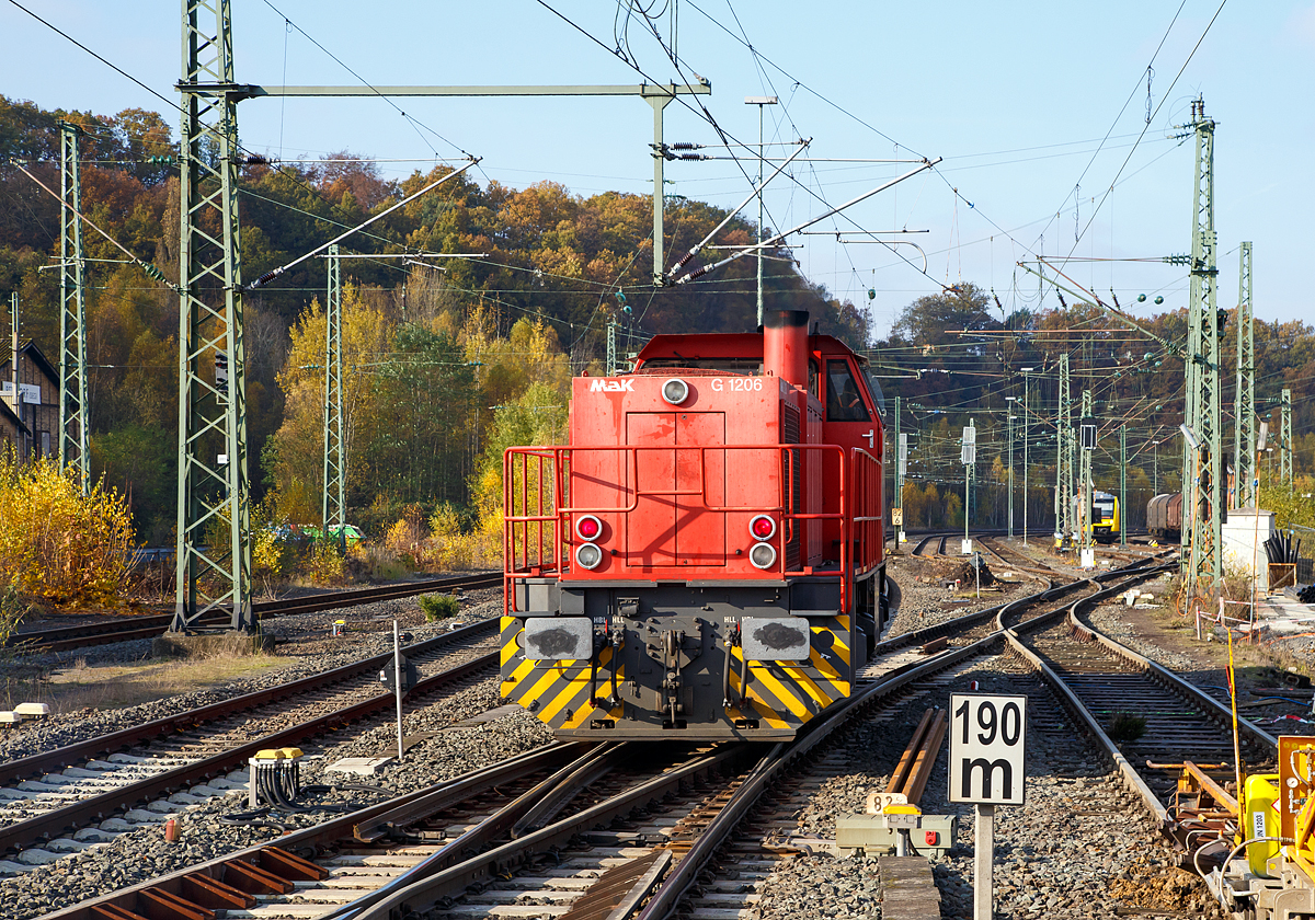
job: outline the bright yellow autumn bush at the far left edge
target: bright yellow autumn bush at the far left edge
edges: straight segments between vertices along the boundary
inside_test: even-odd
[[[0,453],[0,584],[53,605],[110,603],[132,573],[128,502],[97,482],[82,494],[53,460]]]

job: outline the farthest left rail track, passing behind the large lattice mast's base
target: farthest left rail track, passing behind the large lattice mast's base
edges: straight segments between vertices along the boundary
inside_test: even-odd
[[[379,587],[359,587],[347,591],[308,594],[305,597],[284,598],[281,601],[258,601],[254,607],[256,616],[263,619],[266,616],[289,616],[293,614],[309,614],[321,610],[339,610],[342,607],[354,607],[362,603],[393,601],[396,598],[408,598],[435,591],[497,587],[501,584],[501,573],[480,572],[476,574],[447,576],[443,578],[412,581],[398,585],[383,585]],[[85,623],[82,626],[64,626],[49,630],[16,632],[5,639],[4,645],[17,651],[53,652],[85,648],[89,645],[105,645],[109,643],[122,643],[133,639],[154,639],[168,630],[172,622],[172,614],[116,616],[112,620]],[[222,628],[230,622],[231,614],[227,610],[218,609],[204,615],[200,624],[206,628]]]

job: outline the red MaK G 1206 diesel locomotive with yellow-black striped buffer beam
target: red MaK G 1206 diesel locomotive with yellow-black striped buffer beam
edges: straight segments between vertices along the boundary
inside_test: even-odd
[[[502,695],[559,737],[781,740],[884,619],[882,427],[807,313],[659,335],[506,452]]]

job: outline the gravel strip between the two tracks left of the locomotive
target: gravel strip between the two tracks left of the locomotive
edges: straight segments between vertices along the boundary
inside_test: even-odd
[[[490,597],[496,595],[496,597]],[[264,630],[275,635],[276,655],[293,655],[299,661],[270,668],[256,676],[234,681],[222,687],[184,693],[166,699],[141,703],[121,710],[82,710],[51,715],[39,722],[26,722],[0,737],[0,761],[17,760],[99,735],[139,725],[155,719],[185,712],[187,710],[217,703],[242,694],[279,686],[302,677],[318,674],[360,658],[392,651],[392,620],[412,633],[414,641],[430,639],[450,630],[497,616],[501,612],[501,591],[485,589],[467,595],[462,611],[442,623],[426,623],[414,598],[380,601],[348,610],[318,614],[297,614],[266,620]],[[348,632],[331,637],[334,619],[346,619]],[[139,647],[145,645],[145,653]],[[85,653],[85,655],[84,655]],[[92,658],[92,653],[99,657]],[[88,664],[129,664],[141,661],[150,653],[150,643],[130,641],[92,647],[72,652],[24,656],[25,665],[43,668],[67,666],[74,657],[87,657]],[[3,674],[3,672],[0,672]]]

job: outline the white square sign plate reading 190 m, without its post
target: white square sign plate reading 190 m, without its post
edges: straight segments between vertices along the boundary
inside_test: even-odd
[[[949,694],[949,800],[1023,804],[1027,697]]]

